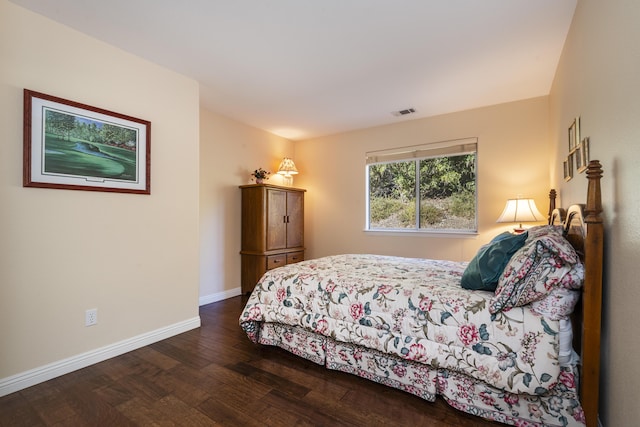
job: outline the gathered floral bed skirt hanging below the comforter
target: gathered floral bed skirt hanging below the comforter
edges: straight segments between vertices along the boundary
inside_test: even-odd
[[[516,426],[584,426],[578,375],[562,368],[559,382],[543,395],[513,394],[457,372],[433,368],[279,323],[259,323],[258,342],[277,346],[328,369],[357,375],[433,402]]]

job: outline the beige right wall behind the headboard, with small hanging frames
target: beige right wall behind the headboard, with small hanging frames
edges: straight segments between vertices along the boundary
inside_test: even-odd
[[[591,158],[601,161],[605,221],[602,425],[640,419],[640,335],[633,319],[640,303],[640,2],[581,0],[550,95],[554,162],[552,181],[564,201],[586,197],[585,175],[562,180],[567,128],[581,117]]]

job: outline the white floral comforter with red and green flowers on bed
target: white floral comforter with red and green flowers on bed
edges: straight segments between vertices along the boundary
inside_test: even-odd
[[[271,270],[240,317],[301,326],[336,341],[466,374],[512,393],[558,382],[557,320],[529,307],[491,314],[493,293],[460,287],[467,263],[337,255]]]

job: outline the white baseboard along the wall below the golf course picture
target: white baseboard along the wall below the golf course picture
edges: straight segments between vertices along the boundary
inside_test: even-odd
[[[200,327],[200,316],[0,379],[0,397]]]

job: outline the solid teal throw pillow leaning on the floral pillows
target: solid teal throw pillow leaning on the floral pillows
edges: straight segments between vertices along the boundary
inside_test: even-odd
[[[518,249],[524,246],[528,233],[504,232],[480,248],[462,274],[465,289],[495,291],[498,279]]]

